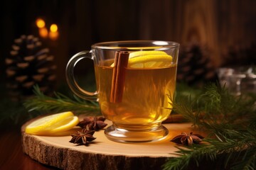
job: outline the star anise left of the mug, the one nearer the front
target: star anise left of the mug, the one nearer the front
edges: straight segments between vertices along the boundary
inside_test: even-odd
[[[93,137],[95,130],[87,130],[82,129],[82,131],[78,131],[77,133],[71,135],[72,139],[70,140],[71,143],[79,144],[79,145],[87,145],[88,142],[92,142],[95,140],[96,137]]]

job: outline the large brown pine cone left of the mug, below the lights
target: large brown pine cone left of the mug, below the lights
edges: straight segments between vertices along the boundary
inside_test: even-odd
[[[6,57],[6,87],[9,96],[21,101],[33,95],[33,85],[50,94],[55,81],[53,55],[33,35],[21,35],[14,40],[10,56]]]

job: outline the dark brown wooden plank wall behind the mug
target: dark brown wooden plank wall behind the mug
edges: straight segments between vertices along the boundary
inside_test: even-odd
[[[60,79],[72,55],[110,40],[196,42],[209,49],[219,67],[230,47],[239,50],[256,41],[255,6],[255,0],[6,1],[1,6],[0,74],[12,40],[36,35],[38,16],[60,26],[57,41],[44,40],[56,57]]]

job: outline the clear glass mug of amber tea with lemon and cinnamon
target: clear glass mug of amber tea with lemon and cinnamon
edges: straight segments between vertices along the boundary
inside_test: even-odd
[[[80,98],[99,102],[102,115],[112,121],[105,130],[108,139],[164,139],[168,130],[161,122],[171,113],[178,47],[177,42],[153,40],[96,43],[68,62],[68,86]],[[80,88],[74,78],[75,64],[84,58],[94,61],[95,92]]]

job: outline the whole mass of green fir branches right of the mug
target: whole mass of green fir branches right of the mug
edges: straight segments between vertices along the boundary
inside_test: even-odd
[[[203,160],[216,162],[218,157],[224,162],[218,168],[255,169],[255,96],[232,96],[225,87],[210,84],[194,98],[179,99],[174,110],[195,127],[209,132],[203,140],[208,145],[178,147],[179,157],[169,159],[163,166],[165,170],[188,169],[191,164],[198,168]]]

